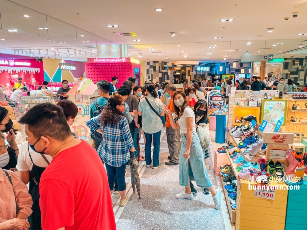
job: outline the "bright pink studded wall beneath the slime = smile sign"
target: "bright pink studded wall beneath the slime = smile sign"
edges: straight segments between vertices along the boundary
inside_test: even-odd
[[[135,65],[135,64],[134,64]],[[118,84],[121,86],[129,77],[134,76],[132,71],[133,63],[86,63],[86,78],[91,79],[94,84],[101,80],[112,81],[112,77],[118,77]]]

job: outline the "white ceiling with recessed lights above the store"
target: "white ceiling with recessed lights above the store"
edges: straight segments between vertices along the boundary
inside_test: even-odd
[[[43,3],[41,0],[13,0],[13,2],[53,17],[48,18],[50,40],[59,42],[60,33],[67,30],[71,30],[73,33],[71,26],[64,26],[63,22],[66,22],[78,27],[75,36],[76,33],[86,34],[86,37],[82,39],[91,41],[89,45],[94,43],[106,44],[106,42],[109,42],[109,44],[128,44],[131,56],[138,57],[139,52],[143,54],[143,58],[139,58],[141,61],[147,59],[164,60],[165,57],[172,61],[182,61],[186,60],[184,56],[187,56],[189,61],[223,58],[240,59],[241,55],[244,55],[247,51],[248,54],[278,54],[276,57],[305,57],[307,55],[306,49],[289,52],[299,48],[299,44],[303,44],[304,47],[307,46],[307,42],[301,40],[307,40],[307,36],[297,35],[307,33],[305,23],[307,21],[306,0],[258,0],[257,2],[244,0],[194,0],[189,2],[183,0],[53,0]],[[13,8],[18,9],[19,17],[21,17],[18,18],[19,24],[22,20],[32,20],[31,34],[46,38],[46,34],[40,34],[45,31],[37,29],[39,26],[45,26],[40,24],[44,17],[24,7],[15,6]],[[164,10],[156,12],[154,8],[157,7],[164,8]],[[14,11],[14,9],[10,10]],[[299,12],[297,18],[292,17],[293,11]],[[76,13],[80,14],[77,15]],[[31,18],[24,18],[21,16],[23,14],[33,15],[31,15]],[[16,10],[14,15],[16,17]],[[285,21],[284,17],[290,19]],[[54,18],[63,22],[56,21]],[[235,20],[220,22],[221,19],[231,18]],[[14,20],[10,21],[13,25]],[[119,25],[120,27],[108,28],[106,25]],[[51,37],[52,27],[56,28],[53,29],[53,34],[57,35],[54,38]],[[273,33],[267,32],[267,28],[270,27],[275,28]],[[126,32],[134,32],[137,36],[122,37],[116,34]],[[176,36],[171,37],[169,32],[176,32]],[[19,33],[22,33],[22,29]],[[37,37],[12,32],[10,34],[14,35],[2,34],[2,31],[0,31],[0,36],[6,35],[10,38],[0,42],[1,48],[5,45],[17,48],[48,48],[48,46],[56,48],[62,46],[62,44]],[[101,41],[95,39],[95,35],[100,36]],[[223,38],[213,39],[215,36]],[[69,40],[70,38],[65,38],[65,36],[61,38],[63,41],[65,39]],[[70,43],[73,46],[72,48],[84,51],[86,47],[81,47],[80,37],[77,36],[74,39],[76,41],[72,40]],[[132,41],[134,39],[141,41],[134,42]],[[251,44],[248,45],[247,42],[251,42]],[[278,42],[279,44],[277,44]],[[281,44],[282,42],[284,44]],[[181,46],[177,46],[177,44],[181,44]],[[273,44],[276,44],[276,46],[273,46]],[[214,45],[216,45],[216,48],[209,48]],[[78,46],[78,48],[75,46]],[[149,51],[150,47],[155,50]],[[260,49],[265,47],[272,49]],[[89,47],[87,46],[87,48]],[[258,50],[261,52],[258,52]],[[282,52],[279,52],[280,50]],[[6,52],[11,51],[8,49]],[[158,56],[158,53],[152,52],[161,52],[159,54],[163,55]],[[207,54],[210,52],[212,54]],[[74,53],[73,50],[72,53]],[[81,56],[77,56],[77,59],[79,58]]]

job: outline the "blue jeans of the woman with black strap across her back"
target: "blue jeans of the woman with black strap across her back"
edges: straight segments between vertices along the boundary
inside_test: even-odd
[[[145,139],[146,139],[146,144],[145,144],[145,160],[146,160],[146,165],[151,164],[151,154],[150,154],[150,149],[151,149],[151,136],[153,136],[153,167],[159,166],[159,155],[160,155],[160,135],[161,135],[161,130],[156,133],[146,133],[145,134]]]

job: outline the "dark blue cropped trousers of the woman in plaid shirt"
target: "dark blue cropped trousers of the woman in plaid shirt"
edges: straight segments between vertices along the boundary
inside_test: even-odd
[[[127,163],[126,163],[127,164]],[[113,190],[114,188],[114,179],[117,179],[117,187],[119,191],[126,190],[126,182],[125,182],[125,170],[126,164],[123,164],[121,167],[114,167],[105,163],[107,169],[107,175],[109,180],[109,188]]]

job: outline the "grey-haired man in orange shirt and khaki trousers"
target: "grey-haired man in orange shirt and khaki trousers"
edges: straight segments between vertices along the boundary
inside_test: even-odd
[[[170,83],[165,86],[165,92],[171,96],[171,99],[169,101],[169,104],[167,105],[167,108],[174,112],[174,102],[173,102],[173,96],[176,93],[176,87]],[[170,161],[165,162],[166,165],[176,165],[179,164],[179,151],[178,151],[178,142],[180,140],[180,129],[173,129],[171,127],[171,124],[169,122],[169,116],[166,116],[166,139],[167,139],[167,145],[169,147],[169,157],[168,159]]]

